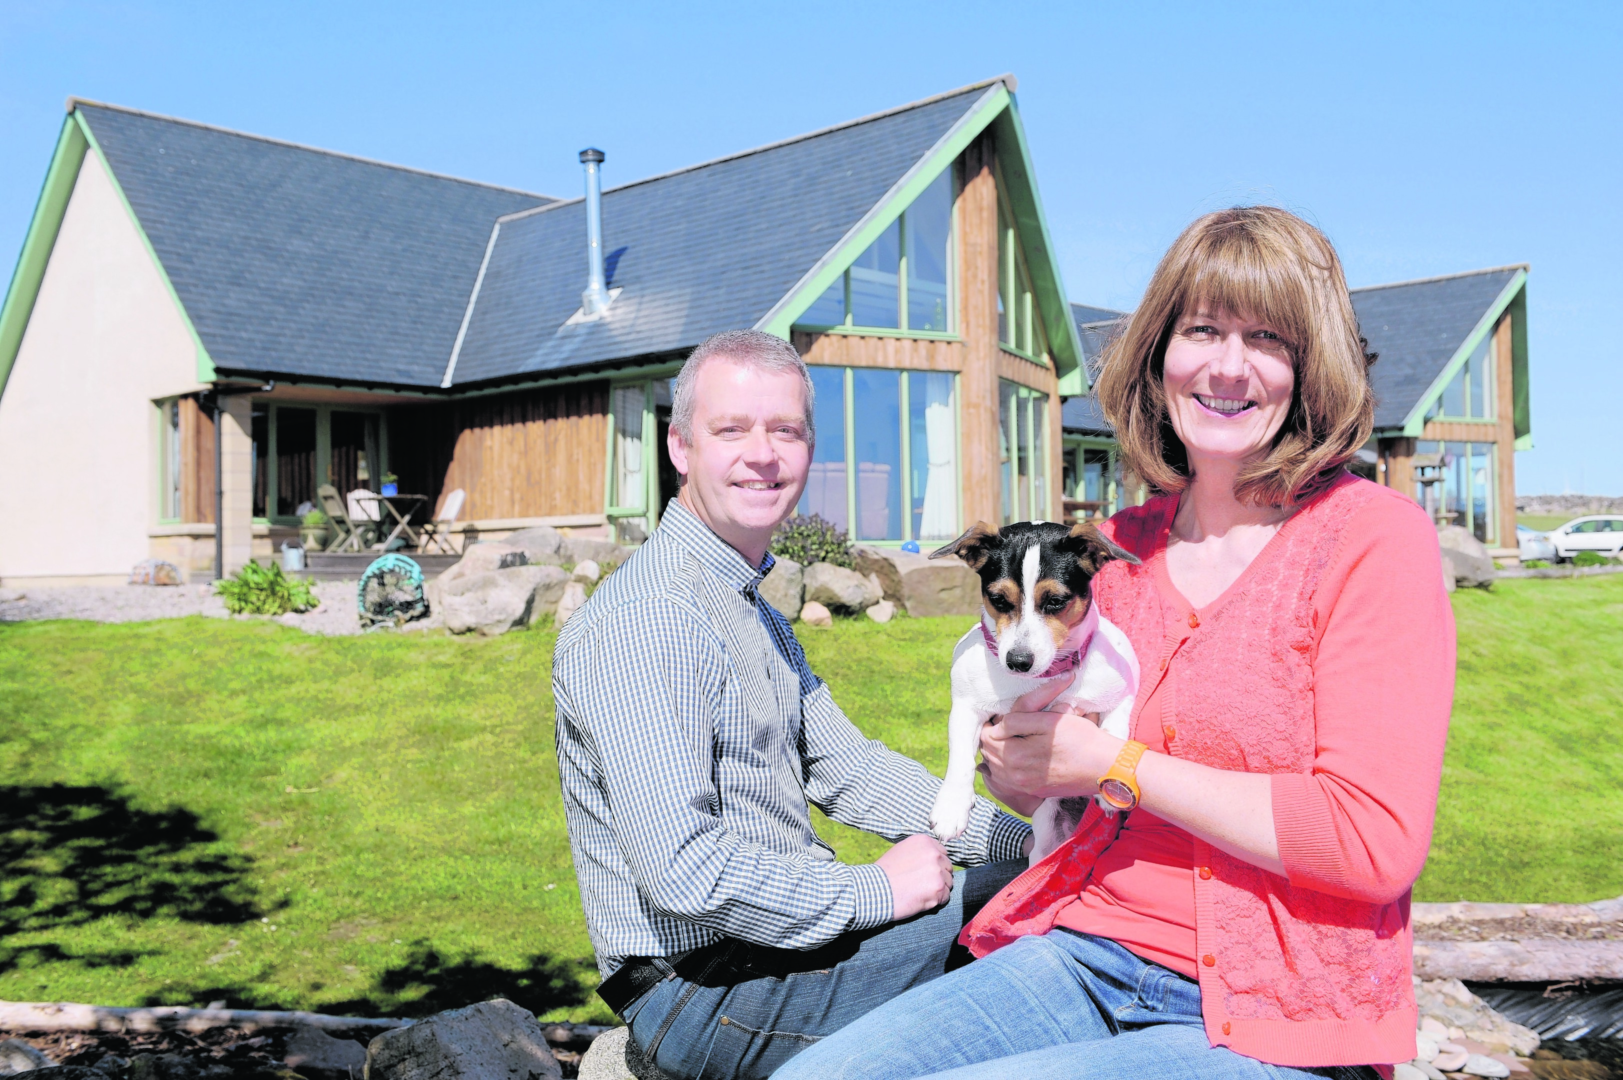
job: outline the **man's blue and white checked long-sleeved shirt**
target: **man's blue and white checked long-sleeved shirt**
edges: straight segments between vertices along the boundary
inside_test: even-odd
[[[563,812],[604,978],[721,937],[812,948],[889,922],[885,872],[836,862],[808,802],[893,841],[928,832],[941,781],[834,705],[756,594],[771,568],[672,500],[558,633]],[[946,849],[1016,859],[1029,832],[979,799]]]

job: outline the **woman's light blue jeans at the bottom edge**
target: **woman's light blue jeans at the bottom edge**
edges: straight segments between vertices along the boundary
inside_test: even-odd
[[[1284,1069],[1214,1048],[1199,984],[1109,939],[1057,929],[902,994],[773,1074],[857,1077],[1375,1080],[1375,1070]]]

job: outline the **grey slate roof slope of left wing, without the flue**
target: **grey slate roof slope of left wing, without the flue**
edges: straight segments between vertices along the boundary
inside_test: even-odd
[[[216,367],[440,385],[500,214],[547,195],[78,102]]]

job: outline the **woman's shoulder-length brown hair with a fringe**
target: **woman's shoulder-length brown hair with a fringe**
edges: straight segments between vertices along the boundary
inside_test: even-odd
[[[1159,492],[1188,487],[1188,455],[1162,382],[1173,322],[1198,305],[1266,322],[1290,346],[1297,385],[1274,445],[1245,464],[1242,502],[1287,507],[1334,481],[1375,427],[1370,364],[1329,239],[1277,206],[1198,218],[1162,257],[1138,310],[1105,346],[1099,404],[1131,473]]]

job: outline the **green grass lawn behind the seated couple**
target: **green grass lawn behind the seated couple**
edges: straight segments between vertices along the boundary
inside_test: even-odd
[[[1422,900],[1623,893],[1623,577],[1456,593]],[[962,619],[802,630],[836,700],[940,771]],[[0,625],[0,999],[607,1020],[570,867],[553,635]],[[876,838],[821,822],[841,854]]]

